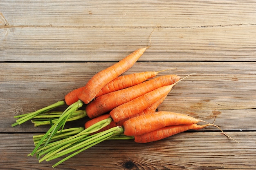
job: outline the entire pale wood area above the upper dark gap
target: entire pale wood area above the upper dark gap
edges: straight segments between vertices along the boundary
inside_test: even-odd
[[[156,26],[141,60],[254,60],[255,7],[254,1],[225,0],[3,0],[0,60],[117,61],[147,46]]]

